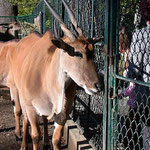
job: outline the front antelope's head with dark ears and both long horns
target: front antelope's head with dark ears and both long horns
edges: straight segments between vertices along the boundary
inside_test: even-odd
[[[80,87],[84,88],[87,94],[94,94],[98,92],[99,80],[96,73],[95,65],[93,62],[93,44],[92,39],[87,39],[79,28],[77,21],[66,4],[62,0],[65,6],[69,19],[74,26],[78,37],[67,28],[62,18],[54,11],[51,5],[44,0],[48,6],[50,12],[59,21],[60,27],[64,32],[64,37],[61,39],[53,39],[52,43],[59,49],[63,49],[61,53],[61,65],[63,71]]]

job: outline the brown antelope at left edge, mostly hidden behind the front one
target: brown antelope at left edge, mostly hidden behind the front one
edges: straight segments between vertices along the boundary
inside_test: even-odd
[[[9,66],[8,66],[8,50],[15,47],[18,41],[11,41],[6,43],[0,43],[0,86],[9,87],[7,79],[9,76]],[[20,116],[21,107],[18,100],[18,94],[16,89],[10,88],[11,101],[14,105],[15,114],[15,135],[16,139],[20,139]]]

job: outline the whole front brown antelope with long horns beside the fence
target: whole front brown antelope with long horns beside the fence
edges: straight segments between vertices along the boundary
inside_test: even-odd
[[[44,2],[59,21],[65,36],[57,39],[47,31],[37,41],[32,41],[31,35],[26,37],[28,42],[20,40],[17,46],[9,51],[8,83],[9,86],[15,85],[18,90],[25,132],[27,121],[31,124],[33,150],[38,150],[39,144],[38,116],[47,116],[47,119],[54,117],[52,143],[54,150],[59,150],[61,131],[71,110],[76,84],[90,95],[98,92],[99,81],[92,60],[95,41],[83,36],[64,0],[62,2],[78,37],[71,33],[47,1]],[[26,149],[25,140],[21,149]]]

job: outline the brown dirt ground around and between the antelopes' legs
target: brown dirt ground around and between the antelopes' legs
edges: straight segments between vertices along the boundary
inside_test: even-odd
[[[0,94],[1,95],[1,94]],[[13,106],[10,101],[9,95],[0,97],[0,150],[20,150],[21,141],[16,141],[14,135],[14,114]],[[42,120],[40,121],[40,128],[42,130]],[[49,136],[51,137],[53,132],[53,125],[48,125]],[[43,149],[43,142],[40,141],[40,150]],[[32,150],[32,143],[28,144],[28,150]]]

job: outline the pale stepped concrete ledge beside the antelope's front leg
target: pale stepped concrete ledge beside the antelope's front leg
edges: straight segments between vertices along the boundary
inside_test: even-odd
[[[68,120],[65,124],[63,140],[65,150],[93,150],[72,120]]]

